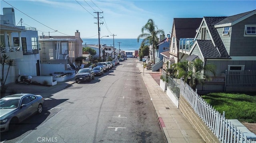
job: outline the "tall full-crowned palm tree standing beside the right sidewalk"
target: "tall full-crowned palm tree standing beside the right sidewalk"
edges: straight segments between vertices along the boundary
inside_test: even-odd
[[[137,37],[137,41],[139,43],[139,39],[144,38],[142,40],[142,43],[149,43],[150,45],[152,45],[153,58],[154,58],[154,64],[155,64],[155,48],[157,47],[157,43],[159,41],[157,35],[160,35],[160,34],[164,35],[164,30],[158,29],[154,20],[149,19],[148,22],[141,28],[141,32],[142,33]]]

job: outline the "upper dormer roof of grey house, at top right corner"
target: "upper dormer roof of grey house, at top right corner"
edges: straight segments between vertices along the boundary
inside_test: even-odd
[[[237,23],[236,22],[237,20],[238,20],[238,22],[242,21],[246,18],[246,16],[250,16],[252,14],[256,14],[256,10],[252,10],[252,11],[249,11],[249,12],[244,12],[242,14],[236,14],[234,16],[228,16],[228,17],[224,18],[223,20],[221,20],[220,22],[216,23],[215,27],[223,27],[223,26],[234,25],[234,24]],[[227,25],[224,25],[224,24],[227,24]]]

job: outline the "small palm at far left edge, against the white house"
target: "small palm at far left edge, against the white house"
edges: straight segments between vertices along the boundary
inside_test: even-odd
[[[13,59],[10,59],[10,57],[6,54],[3,54],[1,55],[1,61],[0,61],[1,65],[2,65],[2,78],[0,79],[1,81],[1,92],[2,93],[5,93],[6,91],[6,88],[5,87],[5,82],[6,82],[6,79],[7,79],[7,76],[8,76],[8,73],[9,73],[9,70],[10,70],[10,67],[13,67],[15,66],[15,62]],[[4,77],[4,65],[8,65],[8,71],[6,73],[6,76]]]

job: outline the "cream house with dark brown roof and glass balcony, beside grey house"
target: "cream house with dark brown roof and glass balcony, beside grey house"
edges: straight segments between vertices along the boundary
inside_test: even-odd
[[[185,54],[180,53],[188,52],[189,47],[196,35],[196,31],[202,22],[202,18],[174,18],[172,24],[172,33],[167,35],[169,42],[169,53],[166,51],[160,53],[163,56],[162,69],[170,68],[172,63],[182,61]],[[169,38],[170,37],[170,38]]]

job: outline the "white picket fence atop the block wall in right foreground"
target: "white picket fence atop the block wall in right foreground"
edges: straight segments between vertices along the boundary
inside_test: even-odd
[[[180,94],[193,108],[194,112],[204,121],[209,129],[218,137],[222,143],[254,143],[247,140],[246,135],[237,130],[225,118],[225,112],[221,115],[210,104],[208,104],[196,91],[194,91],[182,79],[180,81]]]

